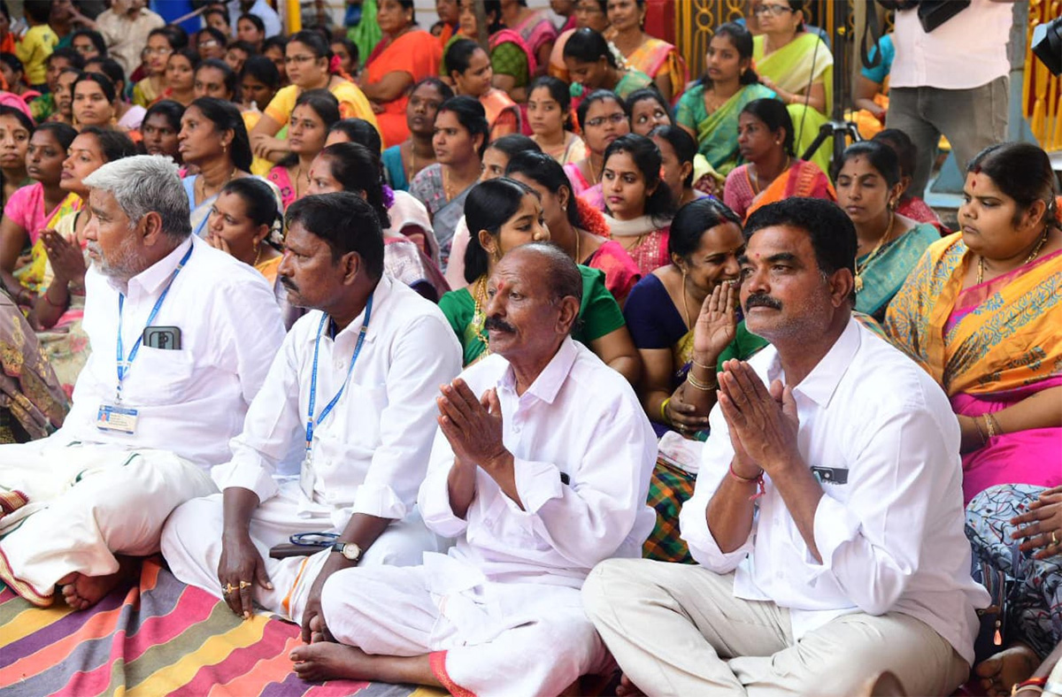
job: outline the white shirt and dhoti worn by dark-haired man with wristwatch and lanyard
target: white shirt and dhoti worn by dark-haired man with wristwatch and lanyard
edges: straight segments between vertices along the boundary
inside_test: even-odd
[[[335,338],[326,329],[318,355],[319,415],[345,384],[331,414],[313,431],[312,500],[278,471],[297,472],[305,458],[313,353],[322,313],[302,317],[273,361],[266,385],[233,439],[232,461],[213,468],[218,488],[250,489],[260,502],[251,534],[278,590],[256,590],[255,599],[294,620],[324,555],[303,569],[303,558],[269,559],[269,547],[294,533],[342,530],[353,513],[395,521],[365,553],[363,564],[417,563],[440,548],[415,510],[435,432],[439,386],[461,369],[461,348],[442,312],[406,285],[380,279],[364,344],[347,371],[362,312]],[[174,511],[162,535],[162,553],[174,575],[216,595],[223,530],[222,498],[189,502]],[[327,553],[325,553],[327,554]],[[285,603],[285,599],[288,602]]]

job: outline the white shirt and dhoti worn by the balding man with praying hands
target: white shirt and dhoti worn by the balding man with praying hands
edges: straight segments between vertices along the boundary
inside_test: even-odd
[[[425,554],[416,569],[335,574],[325,622],[370,654],[433,652],[451,690],[556,694],[606,661],[579,588],[598,561],[640,556],[655,521],[646,498],[656,440],[627,381],[570,338],[521,396],[500,355],[462,377],[476,395],[498,389],[524,509],[480,470],[458,518],[447,489],[453,451],[438,433],[418,505],[457,545]]]

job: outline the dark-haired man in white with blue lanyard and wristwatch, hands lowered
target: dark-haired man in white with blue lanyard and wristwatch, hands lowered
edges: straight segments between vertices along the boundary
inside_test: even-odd
[[[383,275],[383,236],[363,198],[308,196],[287,222],[281,283],[314,312],[291,328],[232,460],[213,468],[222,493],[173,512],[162,554],[177,578],[237,614],[251,616],[257,602],[309,639],[333,572],[414,564],[439,548],[414,504],[435,390],[460,372],[461,349],[438,307]],[[297,480],[278,483],[285,468]],[[292,535],[314,533],[338,536],[308,560],[270,558]]]

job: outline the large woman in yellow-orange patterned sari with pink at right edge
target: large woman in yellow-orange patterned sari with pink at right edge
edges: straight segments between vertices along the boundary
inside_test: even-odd
[[[966,502],[998,484],[1062,484],[1062,220],[1047,155],[982,151],[960,232],[935,243],[886,331],[941,384],[962,433]]]

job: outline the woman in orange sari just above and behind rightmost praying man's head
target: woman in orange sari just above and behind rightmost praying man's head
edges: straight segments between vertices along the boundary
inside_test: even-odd
[[[782,102],[763,99],[746,104],[738,116],[737,142],[748,162],[726,175],[723,202],[742,220],[761,206],[793,196],[837,201],[822,170],[796,159],[793,124]]]

